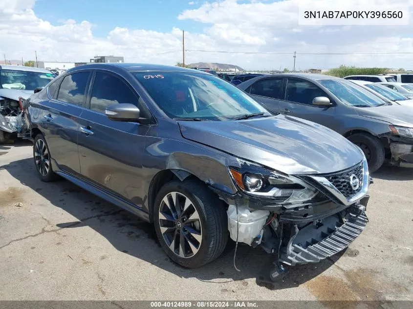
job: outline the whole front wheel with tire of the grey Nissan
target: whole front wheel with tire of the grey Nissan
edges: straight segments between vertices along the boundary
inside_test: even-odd
[[[164,185],[156,196],[153,218],[162,248],[186,268],[212,262],[228,241],[225,205],[195,179]]]

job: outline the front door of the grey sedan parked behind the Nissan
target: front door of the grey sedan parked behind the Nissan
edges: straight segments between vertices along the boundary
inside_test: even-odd
[[[335,105],[330,107],[313,105],[315,97],[327,97],[335,104],[332,98],[316,84],[289,77],[285,83],[284,100],[279,101],[279,112],[323,124],[335,130]]]

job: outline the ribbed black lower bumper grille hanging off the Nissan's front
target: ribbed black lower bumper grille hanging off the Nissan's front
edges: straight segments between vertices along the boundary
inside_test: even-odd
[[[302,241],[303,237],[297,237],[300,231],[295,239],[290,241],[286,252],[283,250],[280,255],[280,262],[287,265],[320,262],[348,247],[360,235],[368,221],[369,219],[365,213],[358,217],[350,217],[344,224],[336,221],[335,227],[326,227],[325,230],[319,233],[320,237],[324,237],[322,240],[318,241],[311,238],[306,240],[305,244]],[[298,241],[301,241],[301,243],[298,243]]]

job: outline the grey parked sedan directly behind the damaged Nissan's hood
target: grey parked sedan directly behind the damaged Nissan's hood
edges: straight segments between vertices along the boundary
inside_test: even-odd
[[[413,112],[355,83],[321,74],[274,74],[239,84],[273,113],[323,124],[365,153],[370,172],[385,160],[413,166]]]

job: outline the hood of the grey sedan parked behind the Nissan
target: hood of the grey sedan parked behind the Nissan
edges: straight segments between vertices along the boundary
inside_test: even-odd
[[[360,116],[382,120],[394,125],[413,126],[413,105],[393,104],[377,107],[354,107],[354,109]]]

